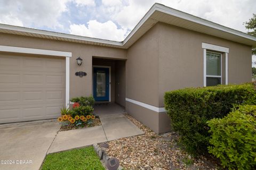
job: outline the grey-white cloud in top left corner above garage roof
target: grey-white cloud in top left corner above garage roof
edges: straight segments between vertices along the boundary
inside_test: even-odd
[[[62,28],[58,18],[67,10],[67,1],[0,0],[0,22],[25,27]]]

